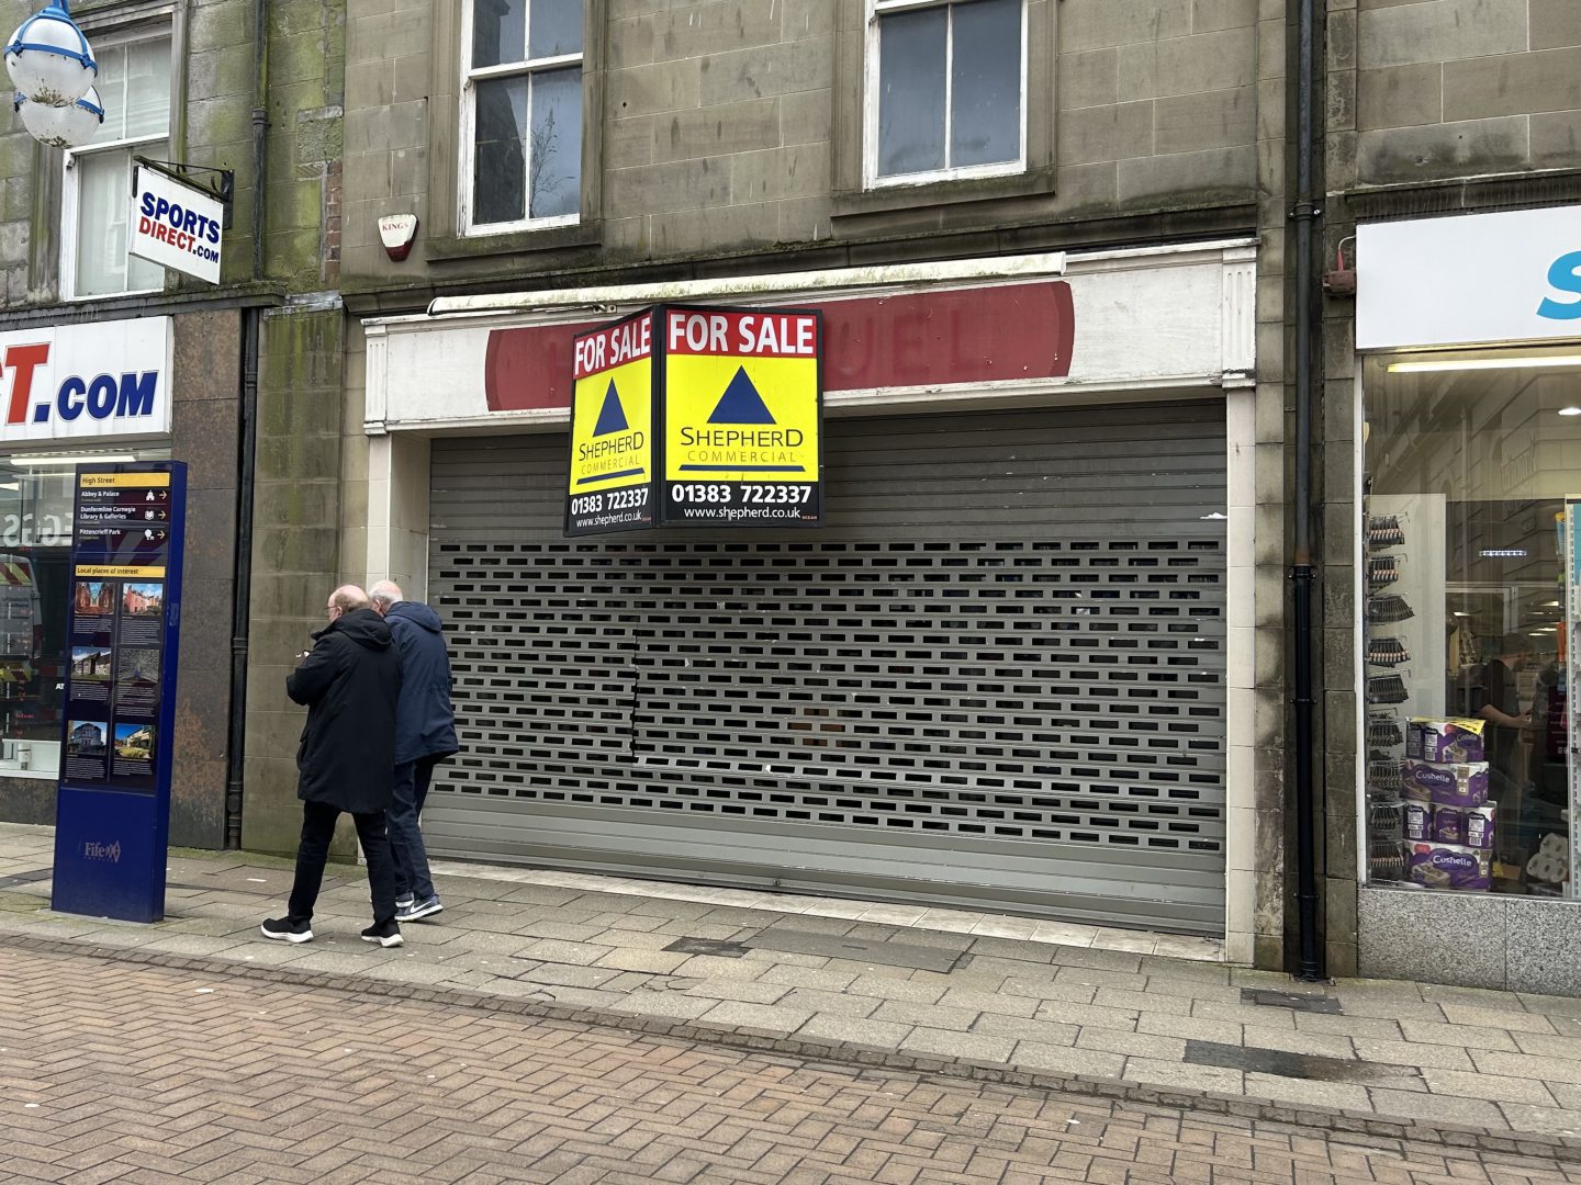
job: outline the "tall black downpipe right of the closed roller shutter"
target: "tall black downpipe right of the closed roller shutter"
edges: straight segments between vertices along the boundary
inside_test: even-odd
[[[1295,115],[1295,860],[1298,976],[1326,978],[1317,908],[1317,818],[1314,774],[1312,687],[1312,406],[1317,401],[1315,357],[1322,308],[1315,302],[1312,240],[1323,210],[1317,202],[1317,0],[1296,0],[1296,115]]]

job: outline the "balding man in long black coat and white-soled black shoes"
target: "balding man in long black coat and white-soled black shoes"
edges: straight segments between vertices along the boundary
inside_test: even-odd
[[[395,871],[384,834],[395,766],[400,660],[389,626],[356,585],[330,592],[324,611],[329,626],[313,635],[313,649],[286,676],[286,695],[308,709],[297,746],[302,842],[288,913],[264,921],[262,932],[283,942],[313,939],[313,905],[324,882],[335,820],[345,811],[356,820],[373,894],[373,924],[362,931],[362,939],[400,946]]]

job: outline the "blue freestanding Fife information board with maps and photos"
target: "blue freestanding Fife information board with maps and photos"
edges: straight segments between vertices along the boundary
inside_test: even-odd
[[[187,466],[76,469],[51,907],[164,916]]]

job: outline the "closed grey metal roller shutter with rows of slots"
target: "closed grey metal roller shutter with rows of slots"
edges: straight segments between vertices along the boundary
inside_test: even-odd
[[[1222,403],[838,419],[827,526],[561,537],[433,442],[443,856],[1224,927]]]

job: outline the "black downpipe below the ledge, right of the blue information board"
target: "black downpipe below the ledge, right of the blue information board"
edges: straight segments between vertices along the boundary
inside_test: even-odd
[[[242,423],[236,488],[236,567],[231,602],[231,722],[225,746],[225,845],[242,847],[242,777],[247,760],[247,651],[253,591],[253,450],[258,444],[261,308],[242,310]]]

